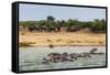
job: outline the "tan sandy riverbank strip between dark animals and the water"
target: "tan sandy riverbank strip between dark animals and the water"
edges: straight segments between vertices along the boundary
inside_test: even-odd
[[[106,34],[81,32],[20,32],[20,46],[45,46],[45,45],[106,45]]]

